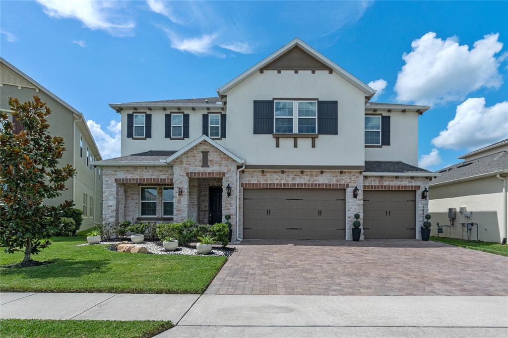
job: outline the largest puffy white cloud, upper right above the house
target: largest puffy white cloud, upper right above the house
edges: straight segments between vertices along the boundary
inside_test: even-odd
[[[499,88],[500,59],[496,54],[503,44],[499,34],[489,34],[473,44],[459,45],[457,37],[446,40],[428,32],[411,43],[404,53],[405,64],[397,75],[395,92],[401,102],[420,105],[444,104],[461,100],[480,88]]]

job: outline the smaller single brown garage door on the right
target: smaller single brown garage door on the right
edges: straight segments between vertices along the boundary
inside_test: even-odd
[[[364,191],[365,239],[414,239],[415,196],[415,191]]]

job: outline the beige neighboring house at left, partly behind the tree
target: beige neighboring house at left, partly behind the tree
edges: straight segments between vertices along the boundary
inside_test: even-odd
[[[67,150],[60,163],[70,163],[76,168],[76,176],[66,183],[67,190],[62,191],[59,197],[46,200],[46,203],[58,205],[64,200],[74,200],[76,208],[83,211],[81,229],[91,227],[94,222],[102,222],[102,170],[91,164],[102,157],[83,114],[11,63],[3,58],[0,61],[0,110],[7,112],[12,119],[9,97],[17,97],[21,103],[33,100],[34,95],[41,97],[51,109],[48,117],[50,133],[63,137],[65,142]],[[15,117],[13,122],[15,132],[19,132],[22,126]]]

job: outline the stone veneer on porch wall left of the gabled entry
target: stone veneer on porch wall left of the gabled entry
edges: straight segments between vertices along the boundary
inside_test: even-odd
[[[118,184],[115,179],[172,179],[171,165],[157,166],[104,166],[103,167],[103,220],[104,222],[131,221],[139,215],[138,184]],[[147,183],[146,185],[150,185]],[[152,184],[153,185],[153,184]],[[136,187],[136,188],[134,188]],[[125,191],[125,189],[127,191]],[[161,190],[162,191],[162,190]],[[125,198],[128,198],[126,201]],[[136,215],[134,217],[134,215]]]

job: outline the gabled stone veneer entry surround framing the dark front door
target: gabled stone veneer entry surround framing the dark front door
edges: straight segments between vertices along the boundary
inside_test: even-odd
[[[208,151],[208,167],[202,167],[202,151]],[[190,178],[187,177],[187,173],[217,173],[222,179],[223,187],[223,221],[224,215],[230,214],[230,222],[233,224],[233,228],[236,227],[236,173],[237,163],[234,159],[224,154],[211,144],[203,141],[196,145],[194,148],[188,150],[180,157],[173,161],[174,170],[174,186],[175,191],[178,188],[182,189],[182,195],[175,194],[175,222],[181,222],[187,217],[188,211],[194,212],[197,210],[193,206],[193,200],[196,195],[190,192],[195,189],[196,183],[194,183],[195,176]],[[195,174],[195,175],[198,175]],[[203,176],[203,178],[206,175]],[[220,178],[219,177],[219,178]],[[203,179],[199,178],[199,179]],[[190,185],[194,186],[190,186]],[[231,186],[231,196],[228,197],[226,193],[226,186]],[[190,194],[189,194],[190,192]],[[233,230],[233,237],[236,236]]]

